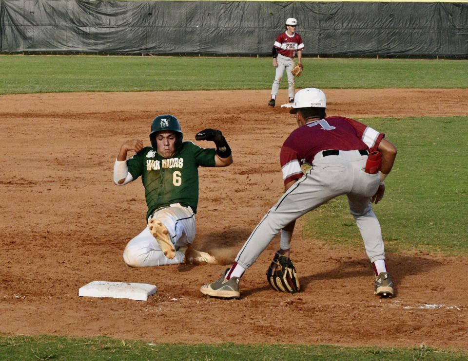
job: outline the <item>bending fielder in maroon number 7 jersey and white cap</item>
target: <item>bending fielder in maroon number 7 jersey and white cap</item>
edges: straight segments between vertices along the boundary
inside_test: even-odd
[[[384,139],[384,134],[369,126],[345,117],[327,118],[325,108],[326,97],[321,90],[306,88],[296,93],[290,112],[296,115],[298,128],[280,152],[285,193],[255,227],[231,268],[217,281],[201,287],[203,294],[239,298],[240,277],[280,230],[280,250],[273,258],[267,279],[276,290],[299,290],[289,258],[295,220],[330,199],[346,195],[374,268],[374,293],[393,295],[382,233],[370,203],[377,203],[384,196],[384,180],[393,166],[396,148]],[[367,173],[369,160],[377,156],[381,156],[380,171],[376,167],[375,174]],[[306,174],[301,169],[303,163],[311,165]]]

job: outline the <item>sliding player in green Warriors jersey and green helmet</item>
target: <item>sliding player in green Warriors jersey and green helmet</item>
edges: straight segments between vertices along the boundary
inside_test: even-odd
[[[125,248],[131,267],[177,263],[216,263],[213,256],[190,246],[195,239],[198,203],[198,166],[225,167],[233,162],[231,148],[217,129],[204,129],[196,140],[215,142],[205,149],[182,141],[173,115],[158,115],[151,124],[151,146],[133,139],[120,147],[114,164],[114,182],[124,185],[141,176],[145,187],[148,226]],[[136,154],[127,160],[127,153]]]

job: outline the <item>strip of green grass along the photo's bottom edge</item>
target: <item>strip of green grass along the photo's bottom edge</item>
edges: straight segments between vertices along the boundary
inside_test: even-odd
[[[162,344],[110,338],[0,336],[1,360],[466,360],[468,352],[332,345]]]

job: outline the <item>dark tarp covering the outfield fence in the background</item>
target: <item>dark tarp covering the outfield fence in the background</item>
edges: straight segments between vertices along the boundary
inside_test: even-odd
[[[468,55],[468,3],[0,0],[0,52]]]

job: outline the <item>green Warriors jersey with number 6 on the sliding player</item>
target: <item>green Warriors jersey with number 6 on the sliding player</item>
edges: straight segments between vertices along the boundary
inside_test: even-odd
[[[183,142],[171,158],[163,158],[147,146],[127,160],[133,179],[141,176],[145,187],[146,219],[157,208],[172,203],[190,206],[196,213],[200,165],[215,166],[215,149],[201,148],[192,142]]]

